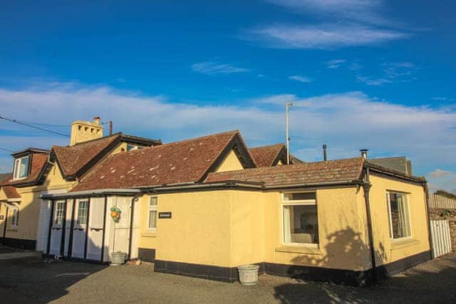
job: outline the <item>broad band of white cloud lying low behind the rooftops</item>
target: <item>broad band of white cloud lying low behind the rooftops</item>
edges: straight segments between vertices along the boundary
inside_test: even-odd
[[[407,155],[415,172],[435,168],[456,171],[451,153],[456,151],[456,110],[451,108],[395,105],[359,92],[312,98],[280,94],[239,100],[237,104],[227,100],[226,104],[197,105],[107,86],[62,83],[40,90],[0,89],[2,115],[68,125],[66,132],[71,121],[100,115],[103,121],[113,120],[114,132],[164,142],[239,129],[252,146],[284,142],[284,105],[299,101],[312,103],[293,107],[290,113],[291,152],[304,160],[321,159],[320,147],[326,142],[330,159],[356,156],[358,149],[367,147],[373,157]],[[7,149],[68,143],[65,137],[0,123],[0,141]],[[6,135],[8,132],[14,136]],[[9,154],[0,154],[0,165],[11,166]]]

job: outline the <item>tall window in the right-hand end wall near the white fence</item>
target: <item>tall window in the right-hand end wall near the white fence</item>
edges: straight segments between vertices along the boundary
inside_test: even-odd
[[[391,239],[401,239],[411,236],[407,195],[387,192],[386,201],[388,203]]]

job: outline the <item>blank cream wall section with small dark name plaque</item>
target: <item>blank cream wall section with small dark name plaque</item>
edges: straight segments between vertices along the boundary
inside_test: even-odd
[[[160,194],[158,211],[172,219],[157,220],[156,258],[230,266],[230,210],[225,191]]]

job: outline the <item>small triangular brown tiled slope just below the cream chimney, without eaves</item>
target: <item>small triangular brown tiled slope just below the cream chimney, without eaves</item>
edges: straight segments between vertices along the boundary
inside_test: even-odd
[[[53,146],[52,150],[56,154],[58,164],[63,175],[72,176],[78,173],[90,160],[103,152],[111,143],[118,139],[120,135],[113,135],[81,142],[69,147]]]

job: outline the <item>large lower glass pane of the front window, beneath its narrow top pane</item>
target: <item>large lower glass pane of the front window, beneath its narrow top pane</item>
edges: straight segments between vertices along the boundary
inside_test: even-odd
[[[284,243],[318,243],[316,205],[284,206]]]

